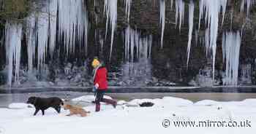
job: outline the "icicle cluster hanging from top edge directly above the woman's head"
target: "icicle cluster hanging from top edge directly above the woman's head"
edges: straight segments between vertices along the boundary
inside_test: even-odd
[[[116,23],[117,23],[117,0],[105,0],[104,12],[107,15],[105,37],[107,37],[108,35],[109,21],[111,25],[111,44],[110,44],[110,59],[111,59],[112,50],[113,50],[114,32],[116,30]]]

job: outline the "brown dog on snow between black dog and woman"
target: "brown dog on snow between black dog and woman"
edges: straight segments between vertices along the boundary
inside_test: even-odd
[[[69,110],[70,114],[67,114],[67,116],[72,116],[75,114],[80,114],[81,117],[86,117],[87,114],[91,113],[90,111],[85,111],[84,109],[78,107],[78,106],[72,106],[69,104],[64,104],[64,109]]]

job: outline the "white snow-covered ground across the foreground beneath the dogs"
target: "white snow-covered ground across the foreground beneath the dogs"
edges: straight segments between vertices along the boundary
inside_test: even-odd
[[[73,101],[90,101],[92,96],[75,98]],[[139,107],[143,102],[152,102],[152,107]],[[239,102],[192,101],[165,97],[161,99],[135,99],[119,101],[116,109],[102,105],[102,111],[95,113],[94,106],[84,109],[91,111],[89,117],[67,117],[69,111],[53,109],[32,116],[34,108],[22,103],[12,103],[9,109],[0,109],[0,133],[255,133],[256,99]],[[173,121],[249,121],[247,127],[174,127]],[[170,126],[168,127],[168,122]],[[163,127],[163,121],[165,127]]]

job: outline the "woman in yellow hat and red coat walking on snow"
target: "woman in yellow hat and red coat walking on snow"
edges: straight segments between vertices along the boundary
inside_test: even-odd
[[[108,90],[107,68],[99,61],[98,58],[94,58],[91,66],[94,67],[94,92],[96,92],[95,111],[100,111],[100,102],[112,104],[113,107],[116,108],[116,101],[103,98],[105,92]]]

